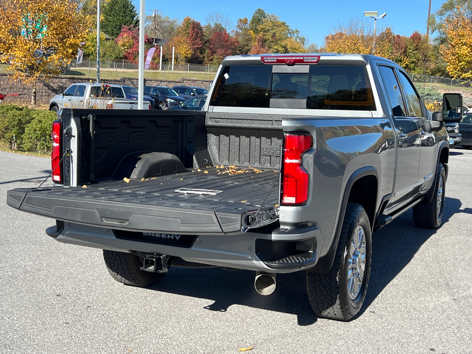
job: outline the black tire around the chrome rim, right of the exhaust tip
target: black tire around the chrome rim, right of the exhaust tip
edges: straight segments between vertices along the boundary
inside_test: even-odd
[[[348,271],[355,264],[350,263],[351,244],[354,232],[362,227],[365,240],[365,264],[362,285],[358,294],[351,297],[348,286]],[[360,204],[348,203],[343,228],[337,244],[333,267],[328,273],[306,272],[306,287],[313,311],[318,317],[332,320],[352,320],[364,303],[371,273],[371,225],[364,208]],[[353,277],[355,274],[352,273]]]

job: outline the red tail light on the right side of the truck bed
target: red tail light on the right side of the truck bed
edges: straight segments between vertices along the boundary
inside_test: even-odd
[[[300,205],[308,199],[308,173],[302,166],[303,152],[313,147],[312,135],[284,135],[282,204]]]

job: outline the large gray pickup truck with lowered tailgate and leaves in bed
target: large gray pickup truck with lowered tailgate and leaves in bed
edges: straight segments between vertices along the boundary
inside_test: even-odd
[[[59,242],[103,249],[124,284],[223,267],[254,270],[269,295],[277,273],[304,270],[314,312],[351,320],[372,232],[411,208],[417,227],[441,225],[444,121],[462,119],[462,96],[444,100],[431,114],[379,57],[230,56],[201,112],[59,110],[55,186],[7,202],[56,219]]]

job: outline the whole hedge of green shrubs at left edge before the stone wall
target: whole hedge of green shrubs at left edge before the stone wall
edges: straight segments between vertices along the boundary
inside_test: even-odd
[[[0,105],[0,141],[11,150],[51,151],[51,126],[56,113],[12,104]]]

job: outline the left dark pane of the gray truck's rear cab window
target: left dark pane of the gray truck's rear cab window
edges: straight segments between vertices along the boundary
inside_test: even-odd
[[[211,97],[211,105],[269,108],[271,77],[271,65],[223,67]]]

